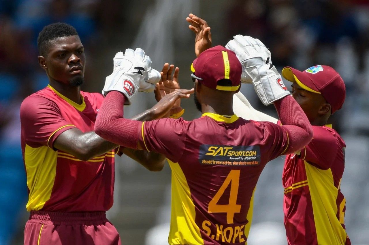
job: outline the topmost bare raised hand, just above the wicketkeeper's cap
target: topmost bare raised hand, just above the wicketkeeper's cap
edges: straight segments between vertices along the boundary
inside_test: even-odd
[[[191,31],[195,33],[195,54],[196,57],[211,47],[211,33],[210,27],[207,22],[197,17],[194,14],[190,14],[186,18],[186,21],[190,23],[188,26]]]

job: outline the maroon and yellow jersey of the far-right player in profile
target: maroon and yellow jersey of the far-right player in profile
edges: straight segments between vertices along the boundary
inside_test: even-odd
[[[331,128],[312,126],[313,140],[288,155],[283,170],[284,225],[288,244],[351,244],[340,184],[345,142]]]

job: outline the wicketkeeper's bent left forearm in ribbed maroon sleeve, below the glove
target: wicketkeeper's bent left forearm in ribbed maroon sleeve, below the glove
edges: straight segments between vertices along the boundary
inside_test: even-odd
[[[118,91],[107,94],[95,122],[95,132],[107,141],[137,149],[138,132],[142,123],[122,118],[125,96]]]

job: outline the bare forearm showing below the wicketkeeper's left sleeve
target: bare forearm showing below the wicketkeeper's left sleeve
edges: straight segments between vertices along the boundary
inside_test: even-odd
[[[159,153],[130,148],[124,148],[123,153],[150,171],[161,171],[164,167],[165,156]]]

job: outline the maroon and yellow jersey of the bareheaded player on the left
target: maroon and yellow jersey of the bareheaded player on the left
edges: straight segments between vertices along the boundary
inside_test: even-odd
[[[81,98],[83,103],[77,104],[49,85],[21,105],[28,211],[106,211],[113,205],[114,151],[82,161],[53,148],[55,139],[70,128],[93,131],[104,98],[82,91]]]

